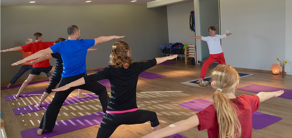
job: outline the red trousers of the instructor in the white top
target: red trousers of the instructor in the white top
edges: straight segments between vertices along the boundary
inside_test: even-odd
[[[224,54],[210,54],[209,58],[203,63],[202,71],[201,71],[201,78],[204,79],[208,67],[215,61],[218,61],[219,64],[226,64]]]

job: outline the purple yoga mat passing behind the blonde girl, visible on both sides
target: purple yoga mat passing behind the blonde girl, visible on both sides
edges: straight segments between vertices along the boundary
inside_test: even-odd
[[[198,112],[202,111],[203,109],[205,109],[209,105],[211,105],[209,100],[202,99],[202,98],[179,104],[179,106],[181,106],[181,107],[192,109],[192,110],[195,110]],[[262,129],[268,125],[271,125],[272,123],[275,123],[275,122],[281,120],[281,119],[282,119],[281,117],[272,116],[272,115],[264,114],[264,113],[260,113],[260,112],[254,112],[253,118],[252,118],[253,128],[254,129]]]

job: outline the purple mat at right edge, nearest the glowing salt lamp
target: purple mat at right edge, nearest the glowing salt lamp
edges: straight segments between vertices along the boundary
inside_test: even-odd
[[[284,93],[282,95],[280,95],[279,97],[292,99],[292,90],[290,90],[290,89],[282,89],[282,88],[276,88],[276,87],[270,87],[270,86],[251,84],[251,85],[248,85],[245,87],[238,88],[237,90],[249,91],[249,92],[253,92],[253,93],[259,93],[262,91],[269,92],[269,91],[284,90]]]

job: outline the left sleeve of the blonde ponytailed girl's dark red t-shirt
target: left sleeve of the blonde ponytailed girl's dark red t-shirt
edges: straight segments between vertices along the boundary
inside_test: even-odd
[[[209,105],[204,110],[196,114],[199,118],[200,125],[198,125],[198,130],[202,131],[205,129],[212,129],[214,126],[218,126],[216,111],[213,105]],[[215,124],[216,125],[215,125]]]

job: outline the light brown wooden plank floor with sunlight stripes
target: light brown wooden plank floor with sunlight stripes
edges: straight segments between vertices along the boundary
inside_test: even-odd
[[[183,59],[184,60],[184,59]],[[208,99],[214,92],[212,87],[199,88],[195,86],[180,84],[193,79],[199,79],[201,67],[192,66],[190,62],[185,65],[183,60],[171,60],[177,62],[173,65],[157,65],[147,70],[166,77],[157,79],[144,79],[139,77],[137,85],[137,105],[139,109],[154,111],[157,113],[159,122],[162,127],[170,125],[174,122],[189,118],[196,114],[196,111],[178,106],[181,103],[195,100],[198,98]],[[100,67],[101,68],[101,67]],[[93,68],[98,69],[98,68]],[[88,74],[95,73],[94,70],[88,70]],[[207,75],[213,68],[209,68]],[[252,73],[255,75],[241,78],[239,87],[250,84],[258,84],[265,86],[278,87],[283,89],[292,89],[292,76],[272,75],[272,73],[251,72],[241,70],[242,73]],[[33,81],[46,79],[46,77],[38,77]],[[20,84],[24,79],[20,79],[16,84]],[[7,86],[8,82],[1,82],[2,86]],[[25,92],[46,89],[48,83],[27,86]],[[1,90],[1,111],[5,121],[5,131],[8,138],[20,138],[20,131],[29,128],[39,127],[41,118],[45,110],[31,112],[28,114],[17,115],[13,113],[13,108],[23,107],[36,104],[41,95],[21,98],[18,100],[5,101],[4,96],[16,94],[19,88]],[[107,89],[110,93],[110,89]],[[149,93],[142,93],[149,92]],[[156,92],[156,93],[151,93]],[[76,96],[77,90],[73,91],[70,96]],[[83,93],[90,93],[83,91]],[[241,94],[256,94],[247,91],[236,90],[236,96]],[[52,93],[44,102],[51,101],[54,93]],[[84,116],[95,112],[101,112],[101,105],[98,99],[78,102],[74,104],[64,105],[58,115],[57,121],[67,120],[78,116]],[[279,116],[282,120],[273,123],[263,129],[253,129],[254,138],[291,138],[292,137],[292,100],[286,98],[271,98],[260,103],[258,112]],[[57,135],[54,138],[93,138],[96,137],[99,125],[88,128],[68,132]],[[112,134],[112,138],[140,138],[151,132],[150,122],[137,125],[121,125]],[[200,137],[207,138],[207,131],[198,131],[197,127],[180,133],[188,138]]]

